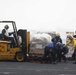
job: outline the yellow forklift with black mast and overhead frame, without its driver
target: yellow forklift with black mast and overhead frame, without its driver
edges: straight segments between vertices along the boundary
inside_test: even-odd
[[[1,24],[11,24],[13,29],[13,38],[15,44],[13,46],[11,41],[3,39],[3,35],[0,34],[0,60],[16,60],[18,62],[25,61],[27,59],[27,30],[17,30],[15,21],[0,21]],[[18,35],[22,38],[22,43],[19,45]]]

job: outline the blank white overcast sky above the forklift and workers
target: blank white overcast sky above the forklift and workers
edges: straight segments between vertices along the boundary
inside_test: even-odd
[[[0,0],[0,20],[28,30],[75,30],[76,0]]]

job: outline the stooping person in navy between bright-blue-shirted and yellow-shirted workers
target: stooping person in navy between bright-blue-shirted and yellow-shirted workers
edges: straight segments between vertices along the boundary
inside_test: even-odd
[[[65,54],[68,53],[69,48],[67,46],[64,47],[64,44],[62,44],[62,43],[57,43],[55,49],[57,51],[57,60],[58,60],[58,62],[61,62],[61,59],[66,61]]]

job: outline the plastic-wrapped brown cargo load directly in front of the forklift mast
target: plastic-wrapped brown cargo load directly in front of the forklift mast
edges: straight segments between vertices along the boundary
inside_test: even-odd
[[[47,33],[36,33],[32,35],[30,41],[29,54],[32,56],[40,57],[44,54],[44,47],[47,43],[51,42],[52,36]]]

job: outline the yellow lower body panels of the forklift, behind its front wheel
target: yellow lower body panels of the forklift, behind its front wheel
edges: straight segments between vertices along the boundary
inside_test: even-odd
[[[0,60],[14,60],[16,52],[20,48],[10,48],[11,42],[0,41]]]

